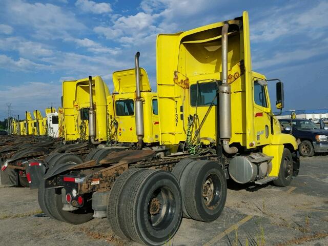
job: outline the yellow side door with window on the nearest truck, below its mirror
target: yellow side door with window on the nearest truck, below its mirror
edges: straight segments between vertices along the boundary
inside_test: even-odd
[[[256,146],[267,145],[271,142],[271,117],[268,88],[260,78],[253,80],[254,92],[254,128]]]

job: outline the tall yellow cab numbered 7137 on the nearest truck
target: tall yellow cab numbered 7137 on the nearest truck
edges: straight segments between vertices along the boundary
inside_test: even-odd
[[[161,144],[195,155],[222,151],[231,160],[227,176],[241,183],[279,179],[287,149],[295,156],[289,172],[297,175],[296,139],[281,133],[268,93],[268,83],[276,81],[276,107],[281,110],[283,84],[252,70],[247,12],[225,22],[159,34],[156,46]],[[247,156],[256,158],[253,153],[265,159],[263,175],[258,175],[258,165],[242,163]],[[257,175],[244,179],[245,170]]]

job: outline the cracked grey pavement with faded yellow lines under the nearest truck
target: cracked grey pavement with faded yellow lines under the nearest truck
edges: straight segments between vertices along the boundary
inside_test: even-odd
[[[301,159],[290,187],[228,182],[222,215],[212,223],[183,219],[167,245],[328,245],[328,156]],[[107,219],[72,226],[40,213],[37,191],[0,188],[0,245],[139,245],[113,235]]]

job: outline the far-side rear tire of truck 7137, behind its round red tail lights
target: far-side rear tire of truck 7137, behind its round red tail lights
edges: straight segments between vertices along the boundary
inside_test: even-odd
[[[57,165],[68,161],[73,161],[76,164],[83,163],[83,160],[76,155],[57,153],[48,158],[48,166],[49,169],[56,168]],[[39,188],[38,195],[40,196],[38,199],[40,207],[51,218],[71,224],[85,223],[93,218],[91,204],[86,206],[86,208],[75,211],[64,211],[64,204],[61,200],[61,188],[44,189],[43,184]]]

